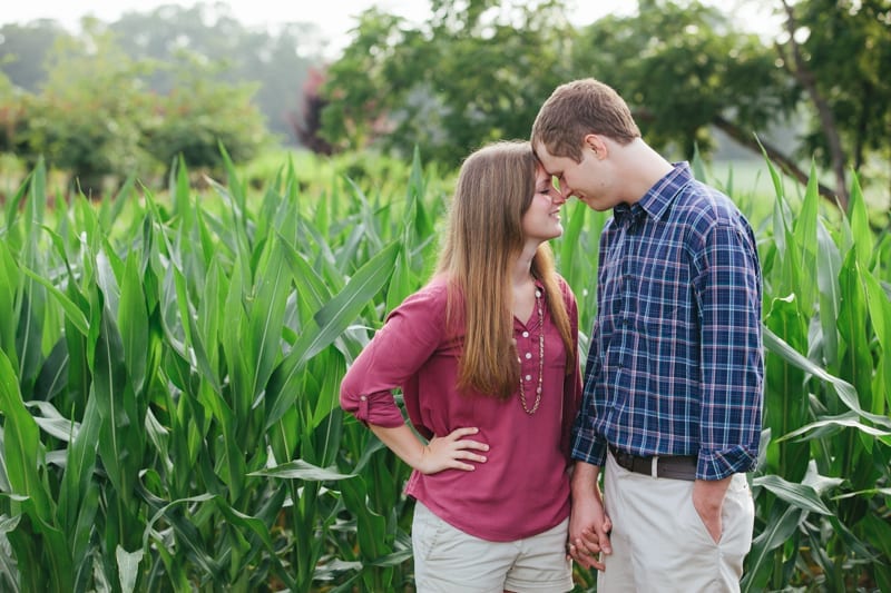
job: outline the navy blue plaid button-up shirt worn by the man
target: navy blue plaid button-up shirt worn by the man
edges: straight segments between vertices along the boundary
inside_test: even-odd
[[[695,455],[701,480],[754,468],[764,360],[752,228],[686,162],[613,215],[572,457]]]

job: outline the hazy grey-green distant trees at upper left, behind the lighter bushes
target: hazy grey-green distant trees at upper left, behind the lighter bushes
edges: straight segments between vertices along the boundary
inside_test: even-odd
[[[301,88],[309,68],[322,61],[325,41],[319,26],[311,22],[276,22],[265,30],[246,26],[224,2],[127,10],[102,27],[115,36],[118,56],[133,62],[176,65],[186,49],[206,62],[225,63],[225,69],[214,72],[214,80],[221,86],[255,88],[252,105],[284,140],[293,139],[292,118]],[[55,41],[79,36],[49,19],[2,24],[0,71],[17,87],[37,93],[48,78],[43,66]],[[182,82],[165,68],[153,69],[143,80],[146,90],[157,96],[167,96]],[[180,86],[180,91],[189,86]]]

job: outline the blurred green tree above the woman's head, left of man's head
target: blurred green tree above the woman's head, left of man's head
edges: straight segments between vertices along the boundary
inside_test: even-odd
[[[419,28],[371,9],[329,68],[323,135],[339,149],[378,146],[456,166],[495,138],[527,138],[569,73],[560,1],[433,1]]]

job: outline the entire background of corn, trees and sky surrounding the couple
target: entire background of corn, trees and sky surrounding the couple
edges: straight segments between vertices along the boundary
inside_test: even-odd
[[[596,77],[756,231],[742,591],[891,592],[890,65],[891,0],[6,0],[0,591],[413,591],[340,382],[461,159]],[[586,352],[610,214],[564,213]]]

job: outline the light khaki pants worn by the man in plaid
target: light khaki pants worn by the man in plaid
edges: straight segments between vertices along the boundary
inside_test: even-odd
[[[598,593],[737,592],[752,546],[755,506],[744,474],[724,498],[715,543],[693,506],[693,482],[631,473],[607,456],[604,505],[613,520],[613,554]]]

